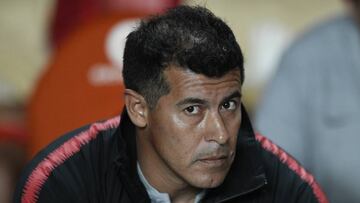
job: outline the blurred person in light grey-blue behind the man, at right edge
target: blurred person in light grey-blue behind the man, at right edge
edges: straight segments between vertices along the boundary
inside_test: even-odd
[[[360,202],[360,7],[347,3],[351,15],[322,22],[285,52],[256,116],[331,202]]]

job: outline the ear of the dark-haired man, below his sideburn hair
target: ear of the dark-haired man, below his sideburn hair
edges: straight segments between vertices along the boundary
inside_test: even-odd
[[[131,121],[139,128],[146,127],[148,107],[142,95],[131,89],[125,89],[125,105]]]

